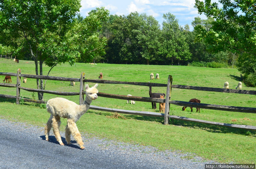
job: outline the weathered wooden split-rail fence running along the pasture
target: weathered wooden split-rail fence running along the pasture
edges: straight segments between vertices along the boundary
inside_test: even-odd
[[[100,96],[100,97],[123,99],[123,100],[134,100],[134,101],[140,101],[140,102],[166,103],[164,113],[156,113],[156,112],[148,112],[148,111],[131,111],[131,110],[99,107],[99,106],[93,106],[93,105],[90,106],[90,109],[100,110],[100,111],[108,111],[108,112],[124,113],[124,114],[132,114],[132,115],[141,115],[141,116],[164,117],[164,124],[168,124],[168,120],[170,118],[170,119],[178,119],[178,120],[185,120],[185,121],[191,121],[191,122],[200,122],[200,123],[205,123],[205,124],[228,126],[228,127],[233,127],[233,128],[256,130],[256,126],[240,125],[240,124],[228,124],[228,123],[221,123],[221,122],[212,122],[212,121],[206,121],[206,120],[199,120],[199,119],[192,119],[192,118],[187,118],[187,117],[169,115],[170,104],[179,105],[179,106],[186,106],[186,107],[198,107],[198,108],[204,108],[204,109],[222,110],[222,111],[256,113],[256,108],[255,107],[238,107],[238,106],[214,105],[214,104],[192,103],[192,102],[183,102],[183,101],[170,100],[172,88],[182,88],[182,89],[203,90],[203,91],[212,91],[212,92],[227,92],[227,93],[256,95],[255,90],[234,90],[234,89],[222,89],[222,88],[185,86],[185,85],[172,84],[173,79],[172,79],[171,75],[169,75],[169,77],[168,77],[167,84],[149,83],[149,82],[148,83],[145,83],[145,82],[143,83],[143,82],[109,81],[109,80],[102,80],[102,79],[85,79],[85,73],[83,73],[83,72],[81,73],[80,79],[79,78],[44,76],[44,75],[21,74],[21,69],[18,69],[17,73],[3,73],[3,72],[0,72],[0,75],[9,75],[9,76],[16,76],[17,77],[16,84],[0,83],[0,86],[3,86],[3,87],[15,87],[16,88],[16,96],[0,94],[0,97],[2,97],[2,98],[16,99],[16,104],[19,104],[20,89],[26,90],[26,91],[29,91],[29,92],[42,92],[42,93],[56,94],[56,95],[62,95],[62,96],[79,95],[79,103],[82,104],[82,102],[84,101],[83,95],[85,94],[85,91],[84,91],[84,83],[85,82],[87,82],[87,83],[89,82],[89,83],[105,83],[105,84],[130,84],[130,85],[140,85],[140,86],[166,87],[166,99],[148,98],[148,97],[139,97],[139,96],[126,96],[126,95],[117,95],[117,94],[107,94],[107,93],[101,93],[101,92],[98,93],[98,96]],[[20,86],[20,78],[21,77],[32,78],[32,79],[46,79],[46,80],[57,80],[57,81],[80,82],[80,91],[79,92],[59,92],[59,91],[52,91],[52,90],[41,90],[41,89],[26,88],[26,87]],[[24,99],[25,102],[46,103],[46,101],[41,101],[41,100],[34,100],[34,99],[28,99],[28,98],[23,98],[23,99]]]

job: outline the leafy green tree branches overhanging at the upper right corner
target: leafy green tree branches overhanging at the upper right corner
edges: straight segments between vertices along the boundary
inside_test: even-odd
[[[211,3],[196,0],[195,7],[199,14],[213,17],[212,27],[209,31],[200,29],[198,39],[208,45],[208,49],[214,52],[230,51],[240,55],[239,70],[246,75],[255,73],[256,65],[256,3],[252,0],[228,1],[219,0]],[[248,63],[251,62],[251,64]],[[248,67],[249,66],[249,67]],[[256,79],[256,77],[255,77]]]

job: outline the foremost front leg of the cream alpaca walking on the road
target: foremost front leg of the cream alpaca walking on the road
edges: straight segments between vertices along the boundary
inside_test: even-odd
[[[69,131],[71,132],[73,138],[77,141],[77,143],[80,145],[80,149],[84,149],[85,147],[84,142],[82,141],[82,136],[77,128],[77,124],[72,120],[68,119],[67,120],[67,125],[69,128]]]

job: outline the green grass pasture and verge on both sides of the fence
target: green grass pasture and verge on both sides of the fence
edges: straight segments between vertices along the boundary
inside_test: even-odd
[[[34,61],[0,59],[0,72],[16,73],[21,68],[22,74],[35,75]],[[43,75],[47,75],[49,67],[43,66]],[[85,72],[86,79],[98,79],[100,72],[103,79],[129,82],[167,83],[168,75],[172,75],[172,84],[189,86],[205,86],[222,88],[224,82],[229,82],[230,89],[236,89],[240,81],[240,72],[231,68],[206,68],[191,66],[159,66],[159,65],[123,65],[123,64],[97,64],[76,63],[70,66],[65,63],[55,66],[49,76],[80,78],[80,73]],[[160,79],[150,80],[150,73],[159,73]],[[3,80],[4,76],[0,76]],[[23,80],[23,78],[21,79]],[[45,82],[45,81],[44,81]],[[12,83],[16,83],[16,77],[12,76]],[[91,87],[93,83],[88,83]],[[21,83],[23,87],[36,88],[36,79],[28,79],[27,83]],[[71,86],[68,81],[46,82],[46,90],[79,92],[79,83]],[[103,93],[121,94],[149,97],[147,86],[135,86],[125,84],[101,84],[98,90]],[[242,84],[242,90],[256,90]],[[152,87],[152,92],[166,93],[166,87]],[[0,94],[16,95],[16,88],[0,87]],[[32,98],[32,92],[20,90],[24,98]],[[37,94],[36,99],[37,98]],[[79,104],[79,96],[56,96],[44,94],[44,100],[63,97]],[[201,103],[230,105],[241,107],[256,107],[256,96],[246,94],[232,94],[222,92],[207,92],[187,89],[172,88],[171,100],[189,101],[191,98],[201,100]],[[24,105],[16,105],[16,100],[0,98],[0,118],[12,121],[27,122],[36,126],[45,126],[49,113],[46,109],[35,106],[35,103],[25,102]],[[138,102],[135,105],[126,104],[126,100],[98,97],[92,105],[158,112],[153,110],[151,103]],[[157,103],[157,107],[158,107]],[[177,115],[201,120],[244,124],[256,126],[255,113],[240,113],[230,111],[217,111],[201,109],[200,113],[181,110],[181,106],[170,105],[170,115]],[[144,117],[136,115],[120,114],[121,117],[113,118],[113,113],[91,110],[85,113],[77,122],[80,132],[88,133],[92,137],[113,139],[140,145],[150,145],[159,150],[181,151],[186,153],[187,159],[193,159],[195,155],[206,160],[215,160],[222,163],[256,163],[256,132],[202,123],[171,120],[170,125],[163,125],[164,118]],[[61,130],[64,131],[66,120],[61,119]],[[42,131],[42,135],[44,132]],[[53,135],[52,130],[50,135]],[[64,137],[64,136],[63,136]],[[28,138],[29,139],[29,138]],[[84,140],[86,141],[86,140]]]

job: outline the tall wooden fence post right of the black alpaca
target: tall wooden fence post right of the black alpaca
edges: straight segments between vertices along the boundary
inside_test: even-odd
[[[168,77],[168,83],[167,83],[167,89],[166,89],[166,97],[165,97],[165,109],[164,109],[164,125],[168,125],[169,124],[169,119],[168,119],[168,115],[170,112],[170,103],[169,100],[171,98],[171,91],[172,91],[172,76],[169,75]]]

